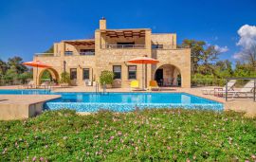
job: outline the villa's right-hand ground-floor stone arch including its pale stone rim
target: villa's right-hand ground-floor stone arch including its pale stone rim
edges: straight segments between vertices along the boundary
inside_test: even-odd
[[[162,81],[159,81],[159,78],[157,78],[157,74],[159,71],[162,71],[160,73],[162,74]],[[159,63],[155,66],[155,70],[153,72],[154,76],[153,78],[155,81],[158,82],[161,86],[183,86],[182,79],[184,76],[182,75],[181,69],[178,67],[178,65],[174,63]]]

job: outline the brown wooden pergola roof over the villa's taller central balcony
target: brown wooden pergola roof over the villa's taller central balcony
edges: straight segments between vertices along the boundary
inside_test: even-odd
[[[119,37],[145,37],[146,29],[106,29],[101,30],[101,33],[105,33],[107,37],[119,38]]]

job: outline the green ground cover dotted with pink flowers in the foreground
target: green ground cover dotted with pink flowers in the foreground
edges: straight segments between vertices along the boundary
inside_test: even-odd
[[[254,161],[256,118],[202,110],[0,121],[0,161]],[[44,159],[44,160],[43,160]]]

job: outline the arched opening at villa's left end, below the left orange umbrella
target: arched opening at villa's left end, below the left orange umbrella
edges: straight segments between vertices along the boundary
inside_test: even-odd
[[[53,68],[46,68],[44,70],[42,70],[39,74],[39,84],[41,84],[42,82],[45,82],[45,81],[52,81],[52,82],[55,82],[55,83],[58,83],[59,81],[59,75],[58,75],[58,72],[53,69]]]

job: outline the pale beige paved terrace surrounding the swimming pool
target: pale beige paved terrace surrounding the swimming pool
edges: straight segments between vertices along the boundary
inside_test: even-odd
[[[18,89],[18,86],[2,86],[0,89]],[[198,97],[202,97],[205,99],[212,99],[219,102],[224,103],[225,110],[234,110],[237,112],[246,112],[247,117],[256,117],[256,102],[253,102],[253,99],[229,99],[229,101],[226,101],[224,98],[218,98],[214,97],[213,95],[204,95],[201,90],[204,88],[213,88],[213,87],[196,87],[196,88],[178,88],[178,87],[169,87],[169,88],[162,88],[160,92],[185,92],[189,93]],[[235,89],[238,90],[238,89]],[[68,88],[54,88],[53,91],[55,92],[95,92],[95,87],[92,86],[71,86]],[[100,92],[103,90],[100,88]],[[112,88],[107,89],[107,92],[132,92],[130,88]],[[137,91],[139,92],[139,91]],[[144,91],[142,91],[144,92]],[[159,91],[153,91],[153,92],[159,92]],[[23,100],[23,103],[33,103],[38,102],[38,99],[42,99],[45,101],[47,99],[51,99],[50,95],[44,95],[44,97],[40,96],[37,98],[31,98],[26,96],[20,96],[20,95],[11,95],[6,97],[7,99],[17,99]],[[59,98],[59,96],[52,96],[52,98]],[[0,96],[0,99],[3,99],[3,96]],[[3,101],[2,101],[3,102]],[[0,101],[0,105],[2,104]]]

